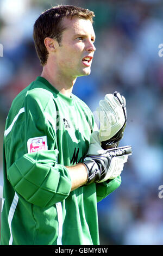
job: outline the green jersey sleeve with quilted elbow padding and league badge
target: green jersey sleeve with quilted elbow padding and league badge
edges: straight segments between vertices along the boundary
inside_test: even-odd
[[[55,108],[52,113],[48,107],[52,105],[50,98],[45,106],[38,99],[31,94],[27,95],[19,135],[16,134],[18,122],[13,127],[12,137],[15,136],[17,147],[13,151],[15,161],[8,168],[7,174],[15,191],[27,202],[45,207],[69,195],[71,179],[67,168],[57,162]],[[23,144],[25,154],[22,154]]]

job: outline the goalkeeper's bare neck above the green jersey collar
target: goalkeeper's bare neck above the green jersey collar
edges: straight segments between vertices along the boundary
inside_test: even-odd
[[[55,89],[67,97],[71,96],[73,85],[77,80],[77,78],[62,75],[56,70],[52,71],[47,65],[43,66],[41,77],[45,78]]]

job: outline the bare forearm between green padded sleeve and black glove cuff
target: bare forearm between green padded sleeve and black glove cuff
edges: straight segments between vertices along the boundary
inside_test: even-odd
[[[84,164],[78,163],[75,166],[66,166],[66,168],[68,169],[72,182],[71,191],[76,190],[76,188],[87,182],[87,170]]]

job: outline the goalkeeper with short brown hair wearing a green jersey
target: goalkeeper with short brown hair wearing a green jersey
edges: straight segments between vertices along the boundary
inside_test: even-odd
[[[95,121],[72,94],[91,71],[93,16],[66,5],[35,22],[43,70],[12,102],[5,126],[1,245],[99,244],[97,202],[120,186],[122,168],[115,175],[105,150],[85,158],[96,151]]]

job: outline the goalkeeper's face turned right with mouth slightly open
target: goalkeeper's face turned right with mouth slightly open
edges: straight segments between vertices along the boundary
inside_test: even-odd
[[[91,21],[73,17],[72,20],[64,18],[62,22],[66,29],[56,52],[59,71],[65,77],[89,75],[96,50]]]

